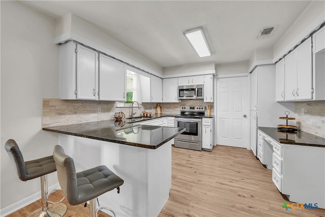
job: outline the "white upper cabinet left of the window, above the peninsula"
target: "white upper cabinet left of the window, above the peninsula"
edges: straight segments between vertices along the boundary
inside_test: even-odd
[[[125,100],[124,64],[73,41],[60,45],[61,100]]]

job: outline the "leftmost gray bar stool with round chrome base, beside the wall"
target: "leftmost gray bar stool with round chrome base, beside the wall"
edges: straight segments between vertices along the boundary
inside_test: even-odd
[[[67,205],[59,202],[64,198],[55,203],[55,205],[48,206],[48,202],[50,201],[47,200],[48,190],[46,174],[56,171],[53,156],[25,162],[15,140],[9,139],[5,144],[5,148],[13,164],[17,167],[18,177],[20,180],[27,181],[41,177],[42,207],[30,213],[28,216],[63,216],[67,211]]]

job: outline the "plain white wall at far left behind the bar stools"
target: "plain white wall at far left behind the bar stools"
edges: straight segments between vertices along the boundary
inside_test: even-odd
[[[58,98],[54,37],[55,20],[18,2],[1,1],[2,216],[4,208],[41,190],[40,178],[19,180],[5,142],[15,139],[25,161],[52,155],[58,142],[58,135],[42,131],[42,98]],[[49,186],[54,183],[56,172],[48,176]]]

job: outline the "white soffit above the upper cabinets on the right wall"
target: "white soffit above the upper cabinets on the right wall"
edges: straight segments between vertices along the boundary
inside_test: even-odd
[[[277,61],[301,42],[325,21],[325,1],[312,1],[287,32],[274,45],[274,61]]]

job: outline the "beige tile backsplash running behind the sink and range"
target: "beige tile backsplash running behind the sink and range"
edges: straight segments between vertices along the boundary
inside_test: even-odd
[[[202,100],[182,100],[181,103],[159,103],[165,114],[179,114],[184,105],[212,105]],[[71,125],[73,123],[114,120],[115,112],[122,111],[127,117],[131,116],[131,108],[116,108],[117,102],[43,99],[43,127]],[[157,103],[142,103],[140,109],[134,108],[135,116],[141,115],[143,110],[155,113]],[[100,110],[100,113],[99,113]]]

